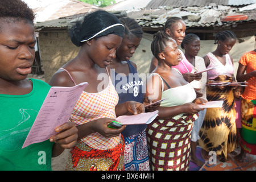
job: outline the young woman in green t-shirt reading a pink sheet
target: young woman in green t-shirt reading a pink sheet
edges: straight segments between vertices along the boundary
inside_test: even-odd
[[[35,58],[33,11],[21,0],[0,1],[0,170],[51,170],[51,158],[75,146],[67,122],[45,142],[22,148],[51,86],[27,79]]]

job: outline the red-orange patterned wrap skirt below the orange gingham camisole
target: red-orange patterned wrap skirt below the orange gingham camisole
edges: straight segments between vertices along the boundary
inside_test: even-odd
[[[79,141],[68,156],[67,171],[123,171],[123,138],[114,148],[97,150]]]

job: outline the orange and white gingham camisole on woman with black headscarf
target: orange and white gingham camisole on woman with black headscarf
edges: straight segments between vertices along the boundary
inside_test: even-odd
[[[71,121],[76,125],[82,125],[99,118],[116,118],[115,106],[117,103],[118,94],[115,92],[111,79],[109,79],[108,87],[101,92],[82,92],[71,114]],[[92,133],[82,138],[81,141],[92,148],[107,150],[114,148],[119,143],[120,138],[121,135],[105,138],[99,133]]]

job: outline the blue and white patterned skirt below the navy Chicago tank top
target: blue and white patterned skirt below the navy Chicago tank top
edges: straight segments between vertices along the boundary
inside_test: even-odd
[[[149,171],[146,129],[125,138],[125,171]]]

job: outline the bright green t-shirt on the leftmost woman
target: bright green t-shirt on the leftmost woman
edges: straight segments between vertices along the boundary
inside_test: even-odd
[[[53,143],[46,140],[22,148],[36,115],[51,88],[31,79],[30,93],[0,94],[0,170],[51,170]]]

